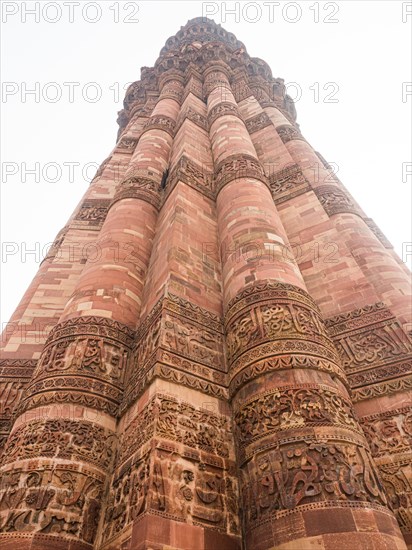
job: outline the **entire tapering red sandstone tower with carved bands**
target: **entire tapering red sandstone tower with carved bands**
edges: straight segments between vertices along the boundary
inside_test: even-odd
[[[406,268],[213,21],[124,105],[3,335],[1,547],[405,549]]]

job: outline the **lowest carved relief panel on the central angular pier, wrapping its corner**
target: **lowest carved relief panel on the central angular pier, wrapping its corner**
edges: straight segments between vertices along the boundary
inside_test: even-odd
[[[146,512],[239,533],[233,474],[199,455],[180,455],[173,445],[159,443],[151,456],[128,461],[115,474],[109,494],[104,541],[113,540]]]

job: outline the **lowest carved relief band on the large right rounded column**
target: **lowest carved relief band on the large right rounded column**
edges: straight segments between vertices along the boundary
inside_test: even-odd
[[[386,505],[385,491],[365,447],[310,439],[257,454],[241,470],[248,523],[309,502]]]

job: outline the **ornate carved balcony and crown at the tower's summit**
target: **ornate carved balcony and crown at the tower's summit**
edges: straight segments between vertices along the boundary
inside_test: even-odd
[[[254,96],[262,106],[272,104],[296,123],[293,100],[286,94],[284,80],[274,78],[269,65],[258,57],[251,57],[245,45],[221,25],[206,17],[191,19],[167,39],[154,67],[142,67],[141,79],[129,86],[124,109],[119,113],[119,138],[137,115],[144,115],[160,94],[165,73],[178,73],[185,85],[196,75],[203,82],[203,73],[211,65],[226,68],[237,101]],[[202,90],[198,96],[205,100]]]

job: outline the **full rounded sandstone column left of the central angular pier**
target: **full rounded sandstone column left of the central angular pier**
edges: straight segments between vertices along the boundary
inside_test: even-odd
[[[0,542],[91,549],[117,448],[116,417],[180,110],[166,73],[89,259],[50,333],[6,444]]]

